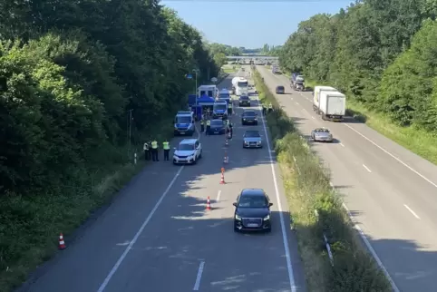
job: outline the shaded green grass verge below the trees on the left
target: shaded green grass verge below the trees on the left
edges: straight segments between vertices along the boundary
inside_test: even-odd
[[[164,141],[173,134],[170,120],[162,124],[165,126],[150,133],[157,141]],[[139,140],[145,138],[146,135]],[[12,291],[23,283],[34,268],[57,252],[60,232],[69,239],[69,234],[81,226],[93,210],[111,200],[144,167],[142,141],[132,149],[139,155],[136,165],[133,160],[127,161],[126,148],[112,152],[102,149],[102,155],[118,162],[92,170],[77,170],[73,179],[65,181],[58,190],[28,197],[16,194],[0,197],[0,291]]]

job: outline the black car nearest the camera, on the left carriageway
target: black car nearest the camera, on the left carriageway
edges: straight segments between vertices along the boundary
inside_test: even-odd
[[[270,219],[270,202],[266,192],[262,189],[244,189],[238,195],[237,200],[233,203],[234,213],[234,231],[272,230]]]

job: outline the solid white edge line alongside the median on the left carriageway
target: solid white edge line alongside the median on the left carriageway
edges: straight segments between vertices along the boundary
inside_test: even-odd
[[[258,98],[257,98],[257,101],[259,102]],[[260,110],[259,107],[258,107],[258,110]],[[286,268],[288,270],[288,279],[290,281],[291,292],[296,292],[295,276],[293,274],[293,266],[291,265],[290,248],[288,247],[288,240],[287,240],[287,234],[286,234],[286,223],[284,221],[284,214],[282,213],[281,198],[279,197],[279,188],[277,187],[277,174],[275,172],[275,164],[273,163],[273,156],[272,156],[272,150],[270,147],[270,141],[268,141],[266,122],[265,122],[264,116],[262,114],[261,114],[261,121],[263,122],[264,133],[266,135],[268,159],[269,159],[270,167],[272,170],[273,184],[275,185],[275,192],[277,195],[277,209],[279,211],[279,219],[281,222],[281,231],[282,231],[282,240],[284,242],[284,251],[286,252]]]

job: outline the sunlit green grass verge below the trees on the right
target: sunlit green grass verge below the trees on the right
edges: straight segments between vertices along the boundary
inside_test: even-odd
[[[316,85],[325,85],[313,81],[307,85],[314,88]],[[330,85],[329,85],[330,86]],[[365,122],[369,127],[383,134],[385,137],[402,145],[406,149],[422,156],[427,161],[437,164],[437,136],[429,131],[423,131],[415,126],[401,127],[394,124],[384,113],[370,111],[364,104],[348,99],[346,114]]]

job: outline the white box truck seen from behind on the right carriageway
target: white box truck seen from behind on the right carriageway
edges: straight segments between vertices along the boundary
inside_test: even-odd
[[[343,121],[346,111],[346,96],[341,92],[320,92],[319,111],[322,120]]]

